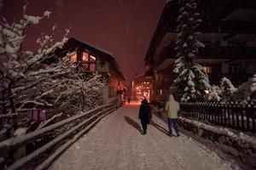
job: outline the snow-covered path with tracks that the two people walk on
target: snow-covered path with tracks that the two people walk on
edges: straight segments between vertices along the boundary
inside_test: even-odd
[[[230,162],[181,134],[166,135],[166,124],[153,116],[154,125],[142,135],[138,105],[125,105],[106,116],[65,151],[49,169],[234,169]]]

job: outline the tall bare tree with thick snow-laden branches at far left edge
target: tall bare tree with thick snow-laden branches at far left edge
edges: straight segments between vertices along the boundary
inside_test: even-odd
[[[26,2],[19,21],[9,23],[3,16],[0,19],[0,113],[12,115],[9,116],[9,121],[4,123],[3,126],[3,123],[0,123],[0,129],[3,128],[4,130],[4,127],[6,127],[8,131],[10,128],[15,129],[17,127],[17,109],[22,108],[22,105],[27,103],[50,105],[38,99],[25,99],[29,94],[25,93],[26,95],[23,96],[21,92],[36,88],[36,84],[43,77],[30,79],[29,75],[38,71],[38,68],[44,67],[44,59],[47,59],[55,48],[61,48],[67,41],[67,34],[60,42],[54,42],[53,37],[45,36],[38,41],[40,48],[36,53],[22,49],[27,28],[37,25],[40,20],[48,18],[50,14],[49,11],[45,11],[42,16],[26,14],[27,5]],[[24,103],[21,101],[24,101]]]

